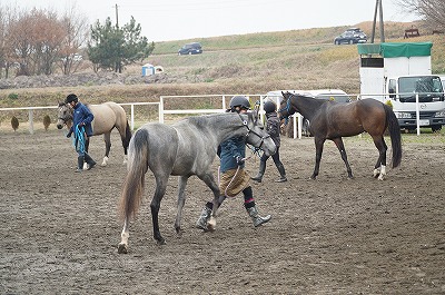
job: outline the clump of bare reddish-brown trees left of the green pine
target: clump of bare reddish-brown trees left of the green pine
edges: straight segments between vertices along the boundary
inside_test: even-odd
[[[76,53],[88,33],[88,22],[73,11],[75,8],[59,18],[51,10],[17,10],[8,22],[1,13],[0,62],[9,60],[18,65],[18,76],[51,75],[57,65],[63,73],[72,72],[80,62]]]

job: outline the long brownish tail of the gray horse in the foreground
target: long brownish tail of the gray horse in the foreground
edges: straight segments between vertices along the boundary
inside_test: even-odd
[[[135,134],[129,148],[128,171],[119,206],[121,218],[131,218],[139,209],[148,169],[147,155],[148,131],[141,129]]]

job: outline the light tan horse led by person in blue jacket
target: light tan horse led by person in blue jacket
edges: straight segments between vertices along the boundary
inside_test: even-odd
[[[116,102],[108,101],[101,105],[86,105],[92,112],[95,119],[92,120],[92,135],[103,135],[105,140],[105,157],[102,166],[107,165],[108,156],[111,148],[111,130],[113,128],[119,130],[120,138],[123,147],[123,164],[127,163],[127,149],[131,139],[131,130],[128,124],[127,114],[125,109]],[[65,102],[59,102],[57,128],[62,129],[67,126],[68,129],[72,125],[72,108]],[[86,151],[88,151],[89,140],[86,142]]]

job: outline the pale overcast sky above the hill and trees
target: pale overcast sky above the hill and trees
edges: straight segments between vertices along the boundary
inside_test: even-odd
[[[375,0],[0,0],[1,6],[59,12],[76,7],[90,23],[107,17],[119,24],[130,17],[149,41],[168,41],[250,32],[354,26],[374,19]],[[412,21],[395,0],[383,0],[385,21]]]

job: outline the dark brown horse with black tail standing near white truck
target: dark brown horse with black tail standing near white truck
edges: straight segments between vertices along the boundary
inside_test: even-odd
[[[310,121],[309,130],[314,135],[316,148],[315,169],[310,177],[312,179],[315,179],[318,175],[323,145],[326,139],[335,142],[346,165],[348,177],[353,178],[353,171],[347,160],[342,137],[355,136],[363,131],[368,132],[373,137],[374,144],[378,149],[374,177],[383,180],[386,175],[386,150],[388,149],[384,139],[386,129],[388,129],[393,148],[393,168],[400,165],[400,127],[389,106],[372,98],[344,104],[293,95],[290,92],[281,92],[281,95],[283,101],[278,110],[280,119],[299,112]]]

